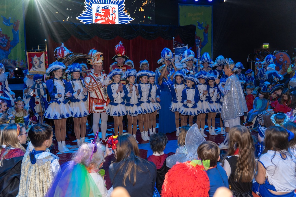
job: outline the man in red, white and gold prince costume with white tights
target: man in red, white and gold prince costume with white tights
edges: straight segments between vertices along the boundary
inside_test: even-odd
[[[106,141],[107,120],[106,107],[110,102],[107,95],[107,85],[104,85],[104,80],[107,75],[103,72],[103,53],[95,53],[91,59],[88,59],[89,64],[93,66],[90,74],[84,78],[84,85],[89,92],[88,108],[89,113],[93,114],[92,130],[95,132],[99,129],[99,120],[101,118],[102,140]]]

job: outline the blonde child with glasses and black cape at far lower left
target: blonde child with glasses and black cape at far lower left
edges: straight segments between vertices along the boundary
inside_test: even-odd
[[[17,196],[26,134],[23,124],[8,124],[1,132],[0,196]]]

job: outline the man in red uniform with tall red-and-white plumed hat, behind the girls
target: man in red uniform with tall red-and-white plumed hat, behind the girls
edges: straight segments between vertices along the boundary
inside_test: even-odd
[[[131,66],[128,66],[128,65],[124,64],[124,62],[128,59],[128,57],[125,55],[126,54],[126,49],[124,48],[121,41],[115,46],[114,51],[115,51],[116,55],[112,58],[112,60],[116,61],[116,64],[110,65],[109,73],[112,70],[117,69],[117,68],[122,70],[123,73],[125,71],[127,71],[128,69],[131,69]],[[125,85],[126,80],[125,79],[120,79],[120,83]]]

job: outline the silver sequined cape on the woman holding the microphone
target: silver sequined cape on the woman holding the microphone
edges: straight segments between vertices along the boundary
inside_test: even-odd
[[[237,75],[232,74],[228,77],[225,82],[224,89],[229,90],[229,92],[223,97],[221,111],[222,120],[231,120],[244,115],[244,112],[247,112],[248,108],[242,91],[241,82],[239,81]]]

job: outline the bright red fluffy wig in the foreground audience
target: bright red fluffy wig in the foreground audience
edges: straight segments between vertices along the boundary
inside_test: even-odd
[[[162,197],[208,197],[210,180],[202,165],[193,161],[174,165],[165,175]]]

